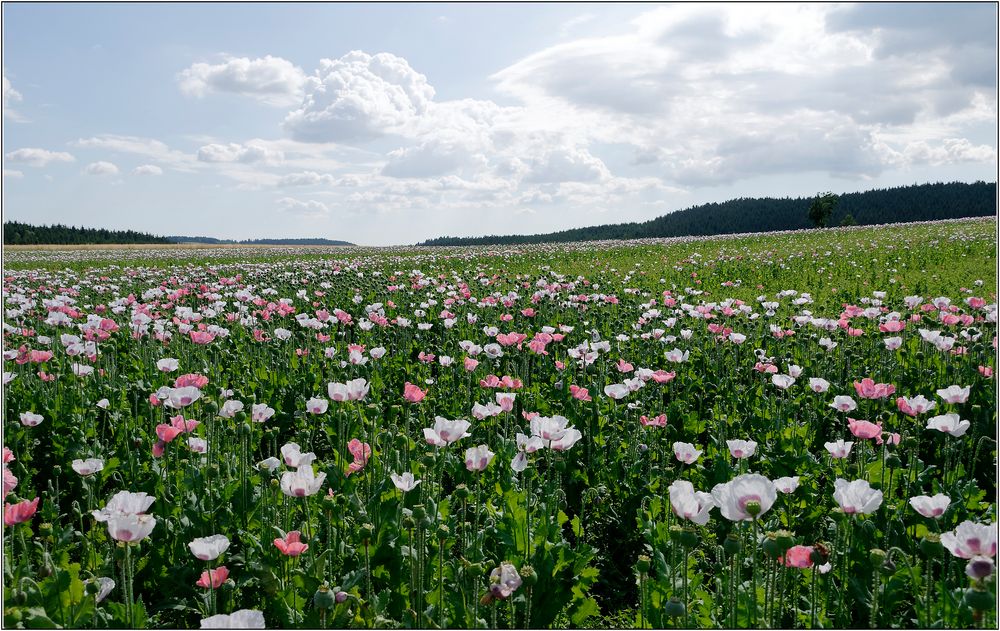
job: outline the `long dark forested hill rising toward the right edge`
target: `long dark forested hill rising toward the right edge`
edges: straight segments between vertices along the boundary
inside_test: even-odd
[[[827,225],[840,225],[847,215],[858,225],[933,221],[997,214],[996,182],[915,184],[839,196]],[[807,211],[813,198],[739,198],[701,204],[650,221],[575,228],[548,234],[440,237],[419,245],[504,245],[560,243],[604,239],[644,239],[772,232],[811,228]]]

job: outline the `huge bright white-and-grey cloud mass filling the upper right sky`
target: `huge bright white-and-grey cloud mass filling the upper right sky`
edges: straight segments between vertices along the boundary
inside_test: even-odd
[[[630,144],[633,165],[682,185],[995,160],[981,148],[989,135],[961,150],[943,142],[974,133],[959,118],[996,110],[996,8],[896,8],[670,5],[630,33],[551,46],[493,78],[526,110],[549,112],[550,130],[584,147]],[[909,138],[894,143],[886,130],[900,129]],[[913,136],[937,149],[907,150]]]

